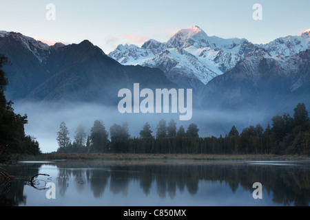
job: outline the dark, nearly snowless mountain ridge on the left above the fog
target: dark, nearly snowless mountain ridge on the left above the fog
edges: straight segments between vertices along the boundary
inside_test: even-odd
[[[99,47],[79,44],[48,46],[14,32],[0,32],[0,53],[9,58],[5,67],[11,100],[117,102],[118,90],[176,87],[160,69],[124,66]]]

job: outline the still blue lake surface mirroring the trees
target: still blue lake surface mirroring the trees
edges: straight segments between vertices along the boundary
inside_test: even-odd
[[[50,161],[5,168],[16,179],[0,190],[1,206],[309,206],[310,202],[309,162]],[[38,176],[31,184],[34,175]],[[260,191],[253,186],[257,182]],[[262,199],[254,199],[254,194]]]

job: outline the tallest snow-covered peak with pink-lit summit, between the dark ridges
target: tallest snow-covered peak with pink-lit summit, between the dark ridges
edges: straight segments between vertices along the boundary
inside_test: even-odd
[[[142,47],[119,45],[108,54],[123,65],[161,69],[180,87],[201,91],[212,78],[231,69],[254,45],[245,39],[209,37],[198,26],[178,30],[166,43],[155,40]]]

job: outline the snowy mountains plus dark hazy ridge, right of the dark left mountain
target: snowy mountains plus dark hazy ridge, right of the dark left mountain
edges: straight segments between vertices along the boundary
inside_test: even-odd
[[[123,65],[161,69],[173,83],[193,88],[203,109],[267,112],[268,118],[291,112],[298,102],[310,106],[309,50],[310,29],[258,45],[208,36],[193,26],[165,43],[118,45],[108,56]]]

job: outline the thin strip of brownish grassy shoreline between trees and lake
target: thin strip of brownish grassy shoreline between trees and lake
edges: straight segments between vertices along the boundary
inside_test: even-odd
[[[134,154],[134,153],[43,153],[37,156],[21,156],[19,160],[310,160],[307,155],[209,155],[209,154]]]

